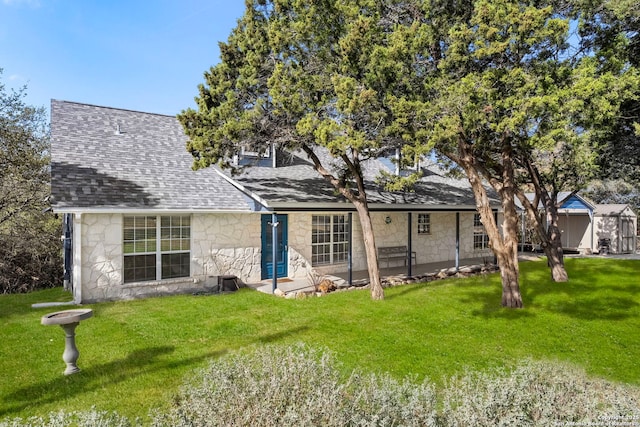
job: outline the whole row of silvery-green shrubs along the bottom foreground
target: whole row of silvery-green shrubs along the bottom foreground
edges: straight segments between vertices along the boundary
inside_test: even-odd
[[[304,344],[242,349],[189,378],[152,425],[172,426],[538,426],[600,425],[640,417],[640,389],[588,378],[561,363],[467,371],[437,390],[428,380],[351,372]],[[1,427],[141,425],[115,413],[50,414]]]

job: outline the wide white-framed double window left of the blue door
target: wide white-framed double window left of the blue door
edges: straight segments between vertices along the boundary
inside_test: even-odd
[[[189,277],[189,216],[124,217],[124,282]]]

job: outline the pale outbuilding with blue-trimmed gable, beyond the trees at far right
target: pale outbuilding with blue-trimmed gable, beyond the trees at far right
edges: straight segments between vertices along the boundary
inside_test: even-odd
[[[533,194],[527,194],[533,200]],[[636,251],[638,218],[629,205],[594,204],[577,192],[558,193],[562,247],[580,253]],[[606,244],[606,249],[603,245]]]

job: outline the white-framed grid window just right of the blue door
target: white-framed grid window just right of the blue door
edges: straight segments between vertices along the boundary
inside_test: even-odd
[[[313,265],[347,262],[349,236],[344,215],[314,215],[311,231]]]

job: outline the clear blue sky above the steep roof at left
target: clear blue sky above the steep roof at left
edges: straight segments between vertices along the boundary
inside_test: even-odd
[[[51,99],[174,115],[195,107],[243,0],[0,0],[0,79]]]

